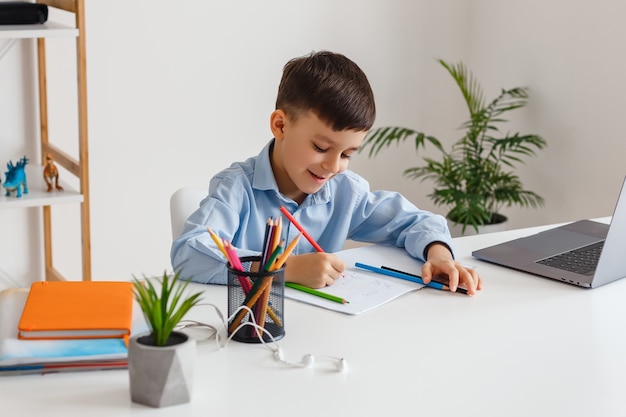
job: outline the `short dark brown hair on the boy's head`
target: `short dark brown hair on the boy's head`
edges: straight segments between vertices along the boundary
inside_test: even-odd
[[[365,73],[345,56],[328,51],[285,65],[276,108],[294,120],[312,111],[335,131],[366,131],[376,118],[374,93]]]

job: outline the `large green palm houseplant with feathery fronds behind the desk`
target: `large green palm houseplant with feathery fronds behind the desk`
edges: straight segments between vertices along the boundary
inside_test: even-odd
[[[463,135],[449,150],[435,137],[414,129],[396,126],[371,130],[362,149],[370,148],[369,156],[377,155],[393,143],[414,139],[415,149],[430,143],[441,158],[423,158],[423,164],[408,168],[404,175],[411,179],[431,180],[435,187],[428,195],[436,205],[449,207],[447,218],[478,232],[478,227],[506,219],[503,206],[538,207],[543,198],[525,190],[514,173],[515,164],[522,158],[535,155],[546,146],[546,141],[535,134],[501,133],[499,126],[507,120],[503,115],[526,105],[528,89],[502,89],[500,94],[486,102],[479,83],[463,62],[449,64],[438,61],[452,76],[461,90],[469,111],[469,120],[461,125]]]

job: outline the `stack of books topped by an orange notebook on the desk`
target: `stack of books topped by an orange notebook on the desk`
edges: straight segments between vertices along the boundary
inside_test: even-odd
[[[128,367],[127,281],[35,282],[0,291],[0,376]]]

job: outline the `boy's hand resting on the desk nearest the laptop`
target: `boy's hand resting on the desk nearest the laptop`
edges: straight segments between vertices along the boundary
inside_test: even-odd
[[[434,275],[446,275],[452,292],[456,291],[459,283],[467,288],[469,295],[482,290],[483,280],[478,272],[452,259],[452,254],[444,245],[434,244],[428,249],[428,259],[422,267],[422,280],[428,284]]]

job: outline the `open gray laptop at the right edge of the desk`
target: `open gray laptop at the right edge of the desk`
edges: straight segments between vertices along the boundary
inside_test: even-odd
[[[580,220],[475,250],[493,264],[585,288],[626,277],[626,179],[611,224]]]

